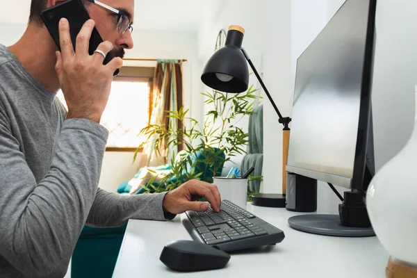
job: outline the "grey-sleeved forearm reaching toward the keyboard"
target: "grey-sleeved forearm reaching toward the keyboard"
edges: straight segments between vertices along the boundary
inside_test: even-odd
[[[92,227],[119,227],[129,219],[167,220],[163,212],[166,193],[119,195],[98,189],[87,223]]]

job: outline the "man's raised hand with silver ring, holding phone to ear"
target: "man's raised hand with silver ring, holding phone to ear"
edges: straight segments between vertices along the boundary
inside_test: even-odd
[[[67,119],[83,118],[99,123],[110,95],[113,73],[122,67],[120,57],[103,65],[104,56],[99,52],[88,54],[90,36],[95,22],[89,19],[72,47],[70,25],[67,19],[59,22],[60,49],[56,51],[56,73],[68,106]],[[113,49],[111,42],[99,44],[97,50],[108,54]]]

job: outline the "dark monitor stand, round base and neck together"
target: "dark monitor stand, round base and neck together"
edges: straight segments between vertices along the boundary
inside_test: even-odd
[[[375,236],[363,201],[363,193],[348,191],[344,195],[343,203],[339,204],[339,215],[297,215],[289,218],[288,224],[293,229],[324,236]]]

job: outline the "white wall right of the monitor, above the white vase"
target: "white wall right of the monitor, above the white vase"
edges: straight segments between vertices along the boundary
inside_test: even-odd
[[[416,13],[416,1],[378,0],[373,83],[377,169],[404,147],[414,124]]]

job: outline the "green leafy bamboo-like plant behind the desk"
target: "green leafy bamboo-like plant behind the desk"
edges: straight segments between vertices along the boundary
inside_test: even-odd
[[[167,117],[183,122],[188,120],[191,128],[183,125],[181,129],[172,126],[165,128],[165,124],[149,124],[139,135],[147,138],[138,146],[133,161],[139,149],[151,146],[154,155],[166,157],[167,152],[177,149],[183,150],[172,155],[169,161],[171,171],[162,175],[152,170],[152,177],[142,186],[145,193],[160,193],[173,190],[190,179],[199,179],[209,183],[213,177],[219,176],[224,163],[231,161],[238,154],[245,154],[249,134],[236,124],[244,117],[252,115],[256,90],[253,85],[246,92],[228,94],[213,90],[203,92],[204,103],[211,106],[206,113],[206,120],[202,125],[192,117],[188,117],[188,110],[183,107],[179,111],[165,111]],[[176,125],[178,126],[178,124]],[[260,177],[253,177],[259,179]]]

